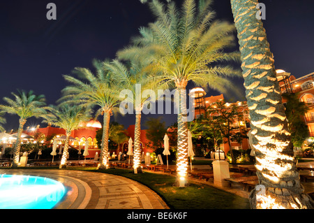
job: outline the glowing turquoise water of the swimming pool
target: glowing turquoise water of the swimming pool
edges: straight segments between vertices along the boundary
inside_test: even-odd
[[[30,175],[0,175],[0,209],[51,209],[66,195],[57,180]]]

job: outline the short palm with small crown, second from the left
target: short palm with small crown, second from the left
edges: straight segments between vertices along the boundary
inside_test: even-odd
[[[83,128],[82,122],[91,120],[91,110],[82,106],[62,103],[61,106],[50,106],[50,114],[45,116],[43,122],[50,123],[66,131],[66,141],[62,152],[59,168],[66,167],[68,157],[68,143],[73,130]]]

